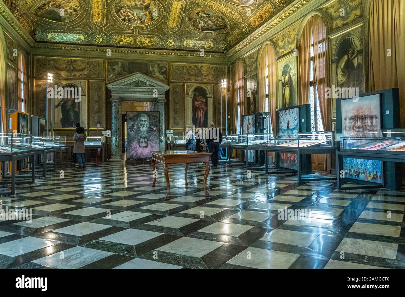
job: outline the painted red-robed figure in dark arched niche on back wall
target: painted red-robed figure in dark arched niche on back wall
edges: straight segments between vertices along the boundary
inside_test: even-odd
[[[195,87],[192,90],[192,123],[196,127],[208,126],[208,96],[203,87]]]

